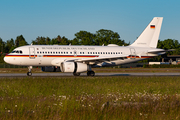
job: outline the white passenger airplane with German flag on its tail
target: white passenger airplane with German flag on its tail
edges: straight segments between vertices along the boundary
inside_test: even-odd
[[[70,72],[74,76],[83,72],[87,72],[87,76],[94,76],[93,67],[116,66],[165,54],[166,50],[156,48],[162,20],[163,17],[154,17],[129,46],[26,45],[15,48],[4,57],[4,61],[28,66],[28,76],[32,75],[32,66],[40,66],[43,70],[59,68],[61,72]]]

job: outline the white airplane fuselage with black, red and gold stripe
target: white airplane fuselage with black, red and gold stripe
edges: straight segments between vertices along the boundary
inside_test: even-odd
[[[153,48],[156,50],[156,48]],[[5,56],[4,60],[13,65],[22,66],[55,66],[52,61],[59,59],[60,63],[68,60],[83,58],[110,58],[119,59],[104,60],[99,66],[120,65],[135,62],[157,56],[146,51],[152,48],[138,48],[131,46],[62,46],[62,45],[27,45],[14,49],[12,53]],[[20,52],[21,51],[21,52]],[[93,62],[89,62],[93,65]],[[58,66],[58,65],[56,65]]]

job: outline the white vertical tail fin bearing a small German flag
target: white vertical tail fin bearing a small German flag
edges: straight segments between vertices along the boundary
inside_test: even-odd
[[[163,17],[154,17],[137,40],[130,46],[156,48]]]

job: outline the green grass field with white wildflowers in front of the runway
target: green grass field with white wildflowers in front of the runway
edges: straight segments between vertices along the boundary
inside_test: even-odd
[[[1,78],[0,119],[180,119],[180,77]]]

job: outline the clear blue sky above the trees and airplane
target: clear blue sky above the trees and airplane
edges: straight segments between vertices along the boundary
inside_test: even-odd
[[[160,40],[180,42],[179,0],[0,0],[0,38],[23,35],[72,40],[81,30],[117,32],[133,43],[153,17],[163,17]]]

